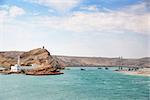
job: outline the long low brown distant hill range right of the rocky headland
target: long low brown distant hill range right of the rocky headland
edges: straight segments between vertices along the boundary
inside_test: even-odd
[[[140,59],[122,59],[106,57],[54,56],[64,66],[137,66],[150,67],[150,57]]]

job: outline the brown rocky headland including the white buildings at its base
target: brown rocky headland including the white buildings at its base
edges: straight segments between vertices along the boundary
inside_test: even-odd
[[[19,56],[19,64],[17,61]],[[37,48],[22,53],[0,52],[1,74],[25,74],[25,75],[60,75],[62,65],[54,59],[45,48]],[[13,69],[14,68],[14,69]]]

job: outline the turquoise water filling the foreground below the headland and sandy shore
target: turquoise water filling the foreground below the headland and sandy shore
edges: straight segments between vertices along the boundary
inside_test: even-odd
[[[97,68],[56,76],[0,75],[0,100],[149,100],[149,77]]]

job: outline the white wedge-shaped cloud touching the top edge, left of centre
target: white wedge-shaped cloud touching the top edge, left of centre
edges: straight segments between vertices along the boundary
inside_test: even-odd
[[[65,12],[76,7],[81,0],[26,0],[26,1],[47,6],[57,11]]]

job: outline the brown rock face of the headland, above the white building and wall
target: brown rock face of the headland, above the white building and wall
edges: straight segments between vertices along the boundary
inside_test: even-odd
[[[0,66],[10,67],[17,63],[17,56],[21,58],[22,66],[30,66],[36,64],[40,67],[60,66],[58,61],[54,59],[46,49],[37,48],[28,52],[0,52]]]

